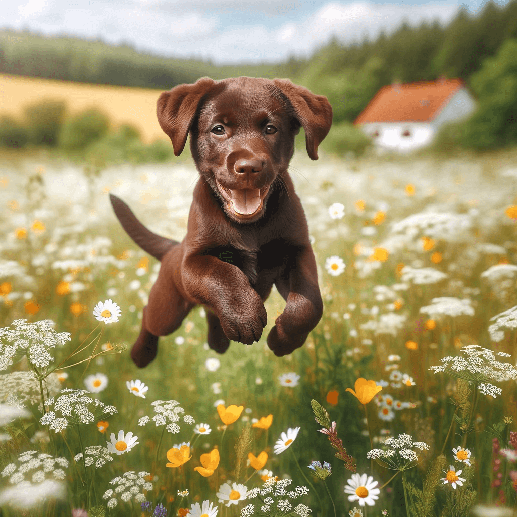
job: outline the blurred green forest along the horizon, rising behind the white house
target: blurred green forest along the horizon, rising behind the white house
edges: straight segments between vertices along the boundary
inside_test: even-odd
[[[491,149],[517,143],[517,0],[485,5],[478,16],[464,8],[451,23],[403,23],[376,41],[345,45],[337,38],[310,58],[284,63],[223,65],[136,52],[128,45],[0,31],[0,72],[49,79],[170,89],[208,75],[288,77],[328,97],[336,152],[367,145],[352,122],[375,93],[394,81],[461,78],[479,102],[476,114],[438,138],[443,148]],[[344,146],[344,147],[343,147]]]

